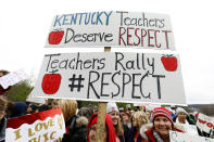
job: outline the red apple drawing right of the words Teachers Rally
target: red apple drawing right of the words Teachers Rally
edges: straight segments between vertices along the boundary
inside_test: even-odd
[[[162,56],[161,61],[166,70],[175,72],[177,69],[177,59],[172,54]]]

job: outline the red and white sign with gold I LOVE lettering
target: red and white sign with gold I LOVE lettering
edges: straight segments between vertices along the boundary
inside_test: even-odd
[[[60,108],[8,119],[7,142],[61,142],[65,132]]]

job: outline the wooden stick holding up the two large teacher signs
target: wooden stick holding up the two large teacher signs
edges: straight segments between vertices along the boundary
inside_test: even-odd
[[[111,48],[105,47],[104,52],[111,52]],[[105,114],[106,114],[106,102],[99,102],[98,103],[98,122],[97,122],[97,129],[96,129],[96,142],[104,142]]]

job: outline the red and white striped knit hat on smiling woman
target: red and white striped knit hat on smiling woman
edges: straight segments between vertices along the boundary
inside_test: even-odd
[[[158,117],[158,116],[164,116],[164,117],[166,117],[174,125],[173,118],[171,116],[171,113],[165,107],[155,107],[153,109],[153,114],[152,114],[152,121],[153,122],[154,122],[155,117]]]

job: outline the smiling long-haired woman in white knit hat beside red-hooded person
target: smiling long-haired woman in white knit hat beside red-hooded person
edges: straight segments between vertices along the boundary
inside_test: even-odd
[[[119,138],[119,141],[125,142],[124,129],[123,129],[123,126],[121,122],[119,112],[118,112],[116,103],[109,102],[106,104],[106,113],[110,114],[110,116],[112,118],[115,133]]]

